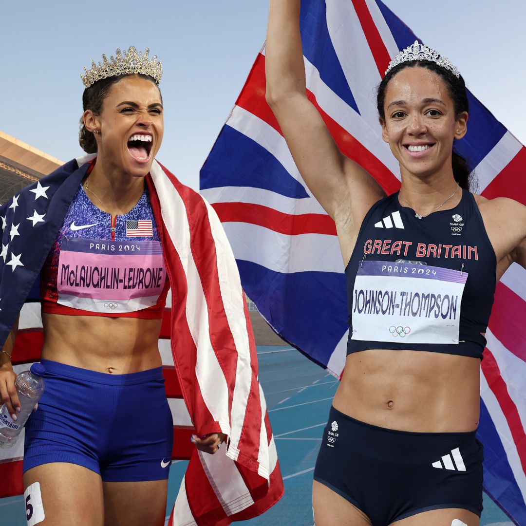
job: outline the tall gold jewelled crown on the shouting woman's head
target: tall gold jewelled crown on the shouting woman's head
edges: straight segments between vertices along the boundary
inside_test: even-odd
[[[149,52],[150,50],[146,48],[143,55],[142,53],[137,53],[137,49],[134,46],[130,46],[128,51],[125,51],[123,54],[117,48],[115,50],[115,58],[110,56],[109,60],[103,53],[102,62],[95,64],[95,60],[92,60],[92,68],[89,71],[84,68],[86,74],[80,74],[80,78],[84,86],[89,88],[103,78],[115,77],[125,73],[141,73],[152,77],[159,84],[163,76],[163,63],[157,60],[157,55],[154,55],[153,58],[148,58]]]

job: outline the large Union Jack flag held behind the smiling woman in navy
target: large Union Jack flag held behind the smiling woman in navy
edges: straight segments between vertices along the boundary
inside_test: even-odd
[[[393,193],[400,171],[381,139],[375,87],[416,37],[380,0],[302,0],[300,27],[309,99],[342,153]],[[526,148],[471,94],[469,103],[468,135],[457,149],[479,193],[526,204],[526,182],[517,176]],[[265,102],[265,49],[200,175],[249,298],[282,338],[340,378],[348,309],[336,228]],[[513,264],[497,286],[486,334],[478,438],[484,489],[517,524],[526,524],[525,318],[526,270]]]

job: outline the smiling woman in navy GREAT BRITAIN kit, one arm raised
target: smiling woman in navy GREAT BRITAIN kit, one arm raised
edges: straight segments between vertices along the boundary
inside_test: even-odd
[[[316,525],[476,526],[484,332],[495,282],[514,261],[526,267],[526,207],[470,193],[453,151],[467,132],[464,81],[418,44],[378,87],[402,176],[386,197],[306,97],[299,11],[299,0],[270,1],[267,100],[336,222],[351,326],[314,474]],[[408,312],[412,326],[396,322]]]

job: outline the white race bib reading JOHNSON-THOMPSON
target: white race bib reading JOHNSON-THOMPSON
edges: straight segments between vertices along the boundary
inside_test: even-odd
[[[458,343],[467,272],[362,261],[352,292],[352,340]]]

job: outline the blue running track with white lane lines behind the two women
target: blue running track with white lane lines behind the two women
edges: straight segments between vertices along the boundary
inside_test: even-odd
[[[338,382],[290,347],[258,347],[259,380],[265,391],[276,439],[284,497],[265,514],[234,524],[312,526],[312,473]],[[168,481],[168,508],[175,501],[186,461],[174,462]],[[0,526],[25,526],[23,498],[0,501]],[[513,526],[484,495],[481,526]]]

